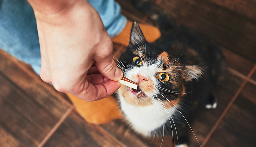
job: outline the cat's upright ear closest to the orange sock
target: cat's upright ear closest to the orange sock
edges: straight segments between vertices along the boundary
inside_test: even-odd
[[[144,43],[145,41],[146,39],[139,27],[139,24],[137,22],[133,22],[129,45],[138,45],[140,43]]]

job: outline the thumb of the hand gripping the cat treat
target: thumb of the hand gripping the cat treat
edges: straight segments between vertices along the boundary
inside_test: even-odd
[[[123,77],[122,71],[117,67],[112,55],[96,60],[98,71],[110,80],[117,81]]]

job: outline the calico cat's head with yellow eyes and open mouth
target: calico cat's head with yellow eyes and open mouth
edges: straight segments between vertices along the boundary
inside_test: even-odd
[[[182,65],[179,59],[147,42],[136,22],[118,66],[124,76],[138,83],[137,90],[125,85],[118,90],[128,104],[135,106],[153,105],[154,100],[166,107],[176,105],[187,92],[186,83],[200,78],[205,69],[200,65]]]

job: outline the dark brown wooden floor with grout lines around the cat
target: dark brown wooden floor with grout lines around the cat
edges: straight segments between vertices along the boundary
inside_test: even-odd
[[[126,0],[117,0],[132,21],[150,23]],[[255,147],[256,1],[156,0],[175,19],[217,41],[227,59],[218,106],[196,116],[192,129],[202,147]],[[125,47],[114,44],[118,57]],[[172,139],[143,139],[121,120],[85,122],[67,97],[41,81],[30,66],[0,50],[1,147],[170,147]],[[191,147],[199,147],[189,131]],[[161,145],[162,142],[162,145]]]

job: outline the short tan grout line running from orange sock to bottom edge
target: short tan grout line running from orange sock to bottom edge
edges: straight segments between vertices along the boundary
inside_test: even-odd
[[[74,109],[74,106],[70,106],[69,109],[62,115],[59,121],[53,126],[53,128],[48,132],[44,139],[37,145],[37,147],[42,147],[45,143],[52,137],[53,133],[59,128],[59,126],[65,121],[71,111]]]

